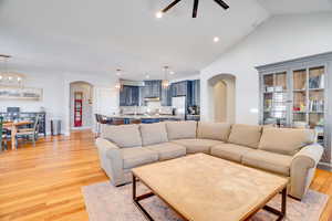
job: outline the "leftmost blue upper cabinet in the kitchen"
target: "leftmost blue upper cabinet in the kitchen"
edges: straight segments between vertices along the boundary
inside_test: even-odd
[[[120,92],[120,106],[138,106],[139,88],[138,86],[124,85]]]

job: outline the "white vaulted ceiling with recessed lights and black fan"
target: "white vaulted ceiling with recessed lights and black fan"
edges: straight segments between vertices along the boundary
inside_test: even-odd
[[[203,0],[198,18],[191,19],[193,0],[183,0],[156,19],[155,12],[170,2],[0,0],[0,54],[13,55],[17,69],[112,75],[123,69],[123,77],[139,80],[145,73],[160,78],[162,66],[169,65],[179,77],[197,74],[270,13],[331,7],[328,0],[278,0],[279,4],[276,0],[228,0],[230,9],[225,11],[212,0]],[[300,2],[309,4],[299,8]],[[220,41],[214,43],[214,36]]]

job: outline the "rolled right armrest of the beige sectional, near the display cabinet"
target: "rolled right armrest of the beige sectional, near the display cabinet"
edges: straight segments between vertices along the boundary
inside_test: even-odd
[[[323,151],[324,149],[321,145],[313,144],[303,147],[293,156],[290,168],[290,194],[292,197],[302,199],[305,194]]]

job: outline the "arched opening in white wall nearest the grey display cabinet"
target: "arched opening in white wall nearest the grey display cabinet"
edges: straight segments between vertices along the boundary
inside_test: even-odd
[[[235,123],[236,116],[236,77],[219,74],[208,80],[209,116],[212,122]]]

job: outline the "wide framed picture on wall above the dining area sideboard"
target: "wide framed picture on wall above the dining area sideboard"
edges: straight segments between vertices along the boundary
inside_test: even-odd
[[[43,90],[32,87],[0,86],[0,99],[42,101]]]

